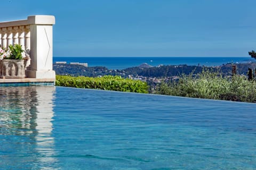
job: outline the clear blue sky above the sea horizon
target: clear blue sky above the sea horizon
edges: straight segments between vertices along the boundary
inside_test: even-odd
[[[255,0],[1,0],[0,22],[54,15],[53,56],[248,57]]]

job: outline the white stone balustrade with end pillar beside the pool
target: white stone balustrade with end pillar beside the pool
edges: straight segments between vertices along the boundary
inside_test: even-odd
[[[27,78],[54,79],[52,70],[52,15],[28,16],[26,20],[0,22],[0,44],[20,44],[30,50],[30,66],[26,69]]]

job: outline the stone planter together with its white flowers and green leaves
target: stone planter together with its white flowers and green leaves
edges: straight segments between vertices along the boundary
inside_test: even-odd
[[[25,78],[25,70],[30,61],[29,50],[23,50],[21,45],[0,46],[0,78]]]

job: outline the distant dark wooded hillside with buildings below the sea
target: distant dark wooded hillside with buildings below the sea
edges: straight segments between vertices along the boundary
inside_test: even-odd
[[[248,68],[253,70],[256,68],[256,63],[242,63],[242,64],[223,64],[218,67],[208,67],[214,71],[220,70],[224,75],[231,75],[232,65],[236,65],[237,74],[247,74]],[[121,77],[174,77],[181,74],[199,73],[203,66],[189,66],[189,65],[162,65],[158,67],[131,67],[124,70],[109,70],[107,67],[85,67],[83,65],[75,64],[53,64],[53,70],[59,75],[83,75],[85,77],[99,77],[103,75],[121,75]]]

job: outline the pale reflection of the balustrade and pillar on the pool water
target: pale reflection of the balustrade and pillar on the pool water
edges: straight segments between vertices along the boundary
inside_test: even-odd
[[[54,92],[55,87],[0,88],[0,169],[56,164],[51,123]]]

